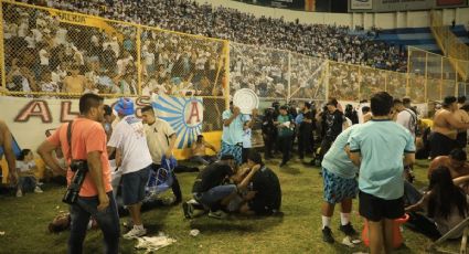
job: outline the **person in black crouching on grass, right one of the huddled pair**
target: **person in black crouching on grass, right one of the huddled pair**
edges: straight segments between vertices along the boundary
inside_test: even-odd
[[[247,157],[249,174],[254,172],[253,180],[243,199],[246,201],[239,209],[243,214],[271,215],[280,210],[281,189],[277,174],[263,163],[259,152],[251,151]],[[246,178],[245,178],[246,179]]]

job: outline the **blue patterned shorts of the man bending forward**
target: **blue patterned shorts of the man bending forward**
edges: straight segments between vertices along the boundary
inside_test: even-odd
[[[344,199],[354,199],[359,193],[358,181],[341,178],[322,168],[322,179],[324,182],[324,201],[328,203],[339,203]]]

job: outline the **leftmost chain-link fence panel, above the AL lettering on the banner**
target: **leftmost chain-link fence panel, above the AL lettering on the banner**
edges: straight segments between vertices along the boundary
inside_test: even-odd
[[[8,2],[2,14],[8,91],[138,94],[136,27]]]

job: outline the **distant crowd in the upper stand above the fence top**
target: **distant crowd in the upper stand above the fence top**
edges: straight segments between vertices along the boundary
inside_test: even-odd
[[[284,19],[256,18],[224,7],[188,0],[125,0],[108,6],[94,1],[30,1],[61,10],[97,14],[161,29],[226,39],[234,42],[289,50],[339,62],[405,72],[406,56],[394,45],[372,36],[352,35],[348,27],[302,24]]]

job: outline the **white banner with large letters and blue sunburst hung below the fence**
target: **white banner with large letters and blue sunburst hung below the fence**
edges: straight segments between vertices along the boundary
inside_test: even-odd
[[[114,105],[115,99],[105,104]],[[199,97],[181,98],[148,96],[135,98],[138,108],[152,105],[157,116],[167,120],[177,131],[177,148],[188,147],[202,131],[203,100]],[[21,149],[35,150],[45,140],[45,133],[78,115],[78,99],[0,97],[0,119],[9,126]]]

